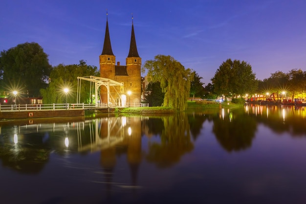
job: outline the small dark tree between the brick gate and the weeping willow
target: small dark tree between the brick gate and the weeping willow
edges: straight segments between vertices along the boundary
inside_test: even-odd
[[[150,82],[145,90],[144,102],[149,106],[162,106],[165,93],[161,91],[159,82]]]

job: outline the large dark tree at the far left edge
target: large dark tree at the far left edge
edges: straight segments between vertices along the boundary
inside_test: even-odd
[[[1,87],[39,96],[51,71],[48,55],[37,43],[24,43],[0,52]]]

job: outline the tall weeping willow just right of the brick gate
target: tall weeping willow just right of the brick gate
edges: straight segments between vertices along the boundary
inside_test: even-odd
[[[185,111],[193,70],[185,69],[170,55],[156,55],[154,60],[145,62],[143,71],[145,69],[148,70],[149,82],[160,82],[160,88],[165,93],[163,106]]]

